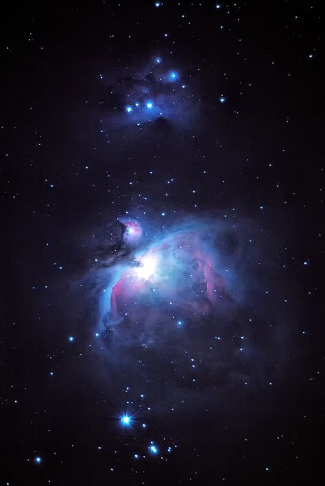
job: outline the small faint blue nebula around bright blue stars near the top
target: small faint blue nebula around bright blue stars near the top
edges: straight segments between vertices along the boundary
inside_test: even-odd
[[[141,130],[156,120],[182,129],[193,125],[202,100],[193,89],[191,70],[181,72],[169,57],[152,56],[126,66],[123,73],[100,75],[103,131]]]

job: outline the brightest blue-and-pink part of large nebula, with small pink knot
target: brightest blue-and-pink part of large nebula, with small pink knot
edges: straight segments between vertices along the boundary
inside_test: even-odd
[[[132,258],[119,261],[110,272],[104,314],[106,323],[122,320],[160,322],[197,319],[212,311],[226,287],[210,227],[181,225],[142,244],[142,229],[128,222],[124,240],[137,243]],[[204,233],[204,231],[205,233]],[[200,228],[199,228],[200,230]],[[136,240],[134,240],[136,238]],[[149,240],[149,243],[148,243]],[[228,270],[227,270],[228,271]],[[176,317],[177,316],[177,317]]]

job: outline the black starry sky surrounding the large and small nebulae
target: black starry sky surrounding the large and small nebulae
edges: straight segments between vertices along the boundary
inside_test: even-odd
[[[320,3],[214,5],[27,2],[2,18],[1,485],[322,483]],[[186,78],[193,114],[139,131],[110,90],[155,55],[170,57]],[[86,296],[91,284],[84,294],[77,287],[108,242],[103,233],[126,210],[141,214],[136,194],[151,196],[145,221],[160,225],[162,181],[173,177],[167,209],[223,218],[236,208],[241,227],[256,235],[261,270],[239,314],[255,312],[266,382],[248,390],[226,381],[215,407],[202,390],[186,413],[155,415],[154,433],[175,438],[178,450],[167,463],[135,465],[129,450],[142,439],[123,434],[115,419],[129,376],[88,349],[96,290]],[[265,283],[278,294],[272,303],[254,294]],[[234,320],[229,336],[241,322]],[[69,335],[77,335],[75,348]]]

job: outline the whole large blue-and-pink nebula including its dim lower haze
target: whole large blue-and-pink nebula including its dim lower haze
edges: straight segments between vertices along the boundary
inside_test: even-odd
[[[160,418],[176,402],[194,413],[229,389],[265,381],[265,373],[271,380],[276,332],[263,308],[256,314],[263,291],[252,223],[187,215],[154,227],[148,220],[110,225],[114,238],[95,252],[88,275],[97,282],[104,369],[130,396],[145,394]],[[137,408],[128,405],[130,414]]]

